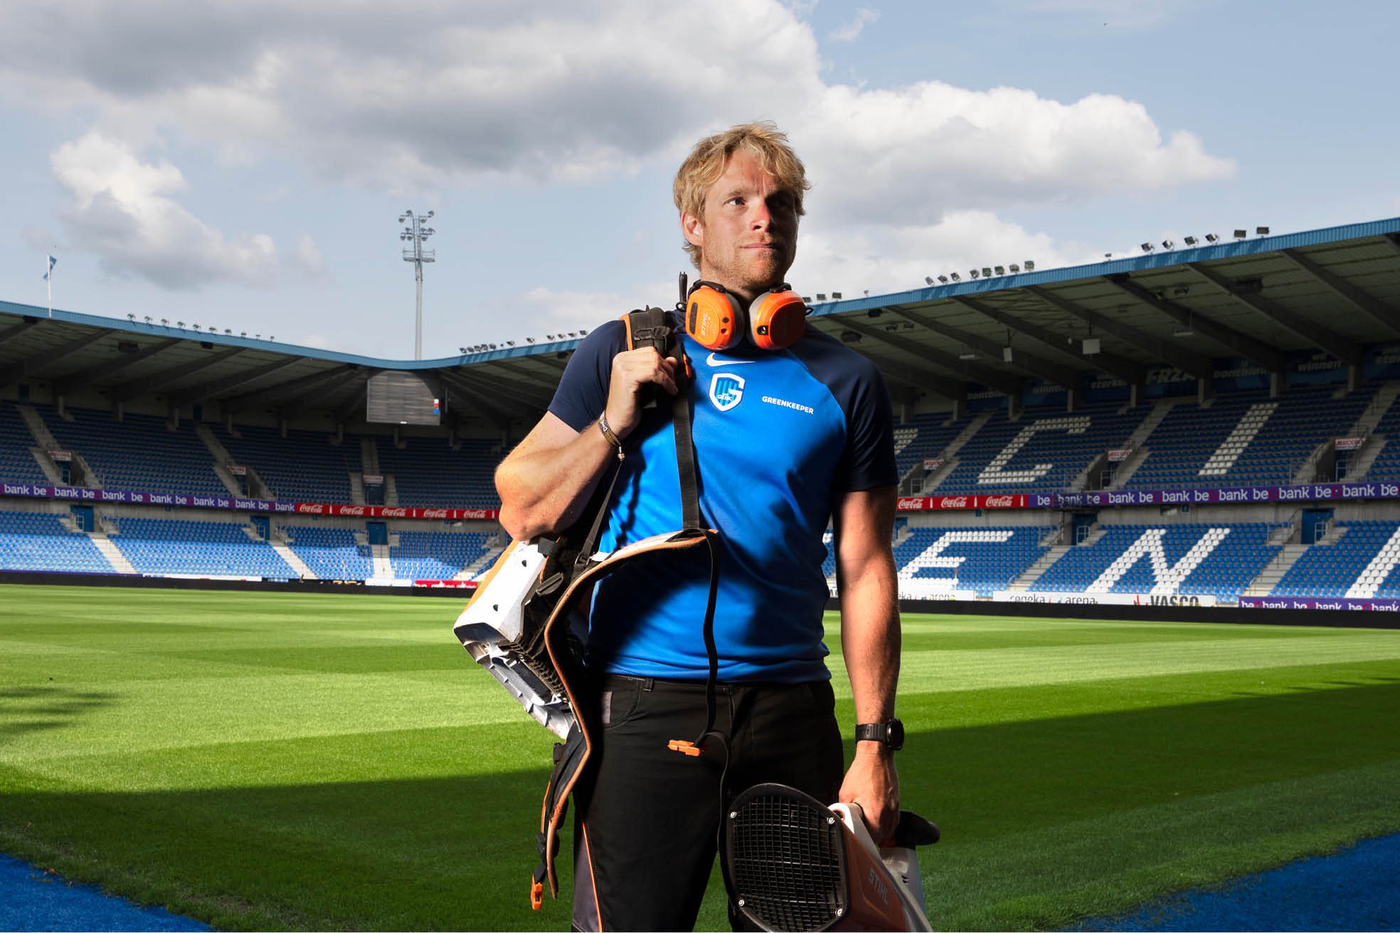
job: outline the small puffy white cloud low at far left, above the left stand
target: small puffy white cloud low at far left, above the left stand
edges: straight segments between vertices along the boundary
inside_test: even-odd
[[[92,131],[49,157],[70,193],[63,207],[73,246],[94,252],[111,274],[134,274],[165,288],[234,280],[270,284],[280,270],[272,236],[230,242],[175,200],[185,176],[169,162],[141,162],[123,143]],[[297,260],[319,269],[321,253],[302,238]]]

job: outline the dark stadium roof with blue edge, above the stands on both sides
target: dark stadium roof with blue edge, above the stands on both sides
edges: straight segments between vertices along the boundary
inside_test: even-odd
[[[939,271],[931,262],[930,273]],[[1229,357],[1270,372],[1298,351],[1359,364],[1364,346],[1400,340],[1400,217],[823,302],[812,323],[872,358],[904,401],[962,399],[969,383],[1018,394],[1028,378],[1064,387],[1095,373],[1142,383],[1159,366],[1198,378]],[[1086,355],[1089,339],[1099,350]],[[577,346],[379,359],[183,322],[49,316],[0,302],[0,387],[94,389],[112,401],[158,397],[179,407],[217,401],[288,418],[326,413],[344,424],[364,420],[365,383],[385,369],[435,378],[459,415],[501,428],[533,420]]]

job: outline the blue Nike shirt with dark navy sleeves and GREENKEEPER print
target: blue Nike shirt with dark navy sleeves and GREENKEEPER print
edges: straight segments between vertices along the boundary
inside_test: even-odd
[[[897,481],[885,380],[869,359],[815,327],[776,352],[748,343],[710,352],[682,340],[694,369],[687,392],[700,512],[721,543],[720,680],[829,678],[822,534],[843,494]],[[594,330],[568,361],[549,410],[575,431],[588,428],[608,401],[612,358],[623,350],[620,320]],[[601,551],[683,525],[671,401],[658,387],[655,407],[623,443],[627,459]],[[703,680],[708,587],[706,548],[638,561],[602,581],[589,615],[589,667]]]

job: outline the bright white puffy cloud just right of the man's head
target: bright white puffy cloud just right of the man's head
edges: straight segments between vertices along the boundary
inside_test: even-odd
[[[946,210],[1054,203],[1229,178],[1198,137],[1162,134],[1141,104],[1093,94],[1060,104],[1032,91],[939,81],[826,88],[794,129],[812,197],[843,217],[937,222]]]

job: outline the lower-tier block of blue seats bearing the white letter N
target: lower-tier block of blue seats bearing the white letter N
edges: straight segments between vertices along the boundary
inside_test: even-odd
[[[1072,547],[1032,592],[1179,593],[1236,600],[1278,553],[1278,523],[1110,525]]]

